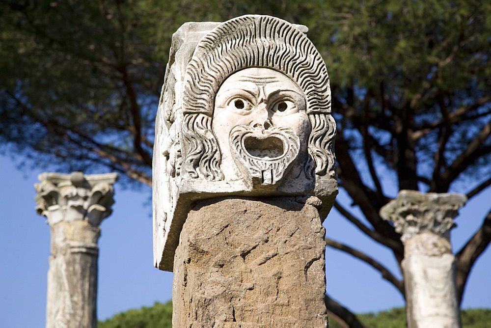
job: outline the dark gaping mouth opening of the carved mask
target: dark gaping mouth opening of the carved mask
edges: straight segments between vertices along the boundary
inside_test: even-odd
[[[246,152],[253,157],[264,160],[280,158],[285,153],[283,141],[277,137],[248,136],[244,140]]]

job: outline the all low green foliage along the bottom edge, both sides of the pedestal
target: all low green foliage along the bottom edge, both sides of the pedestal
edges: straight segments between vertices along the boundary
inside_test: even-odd
[[[358,314],[360,322],[367,328],[405,328],[406,308],[398,307],[378,313]],[[463,328],[490,327],[491,309],[462,310]],[[171,328],[172,301],[165,304],[156,302],[152,307],[142,307],[116,314],[99,322],[99,328]],[[342,328],[333,318],[329,318],[329,328]]]

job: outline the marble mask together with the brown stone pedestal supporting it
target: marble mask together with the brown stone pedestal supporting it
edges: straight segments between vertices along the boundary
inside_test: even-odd
[[[337,193],[336,126],[306,32],[246,15],[174,33],[153,204],[175,327],[327,326],[321,218]]]

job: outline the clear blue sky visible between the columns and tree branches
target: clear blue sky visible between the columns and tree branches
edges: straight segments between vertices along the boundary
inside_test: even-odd
[[[50,228],[34,211],[33,186],[38,182],[37,175],[44,170],[18,170],[5,156],[0,156],[0,167],[0,327],[43,327]],[[113,213],[103,221],[99,239],[97,308],[102,320],[172,298],[172,273],[159,271],[152,264],[150,189],[143,186],[139,191],[125,190],[116,183],[115,191]],[[338,197],[346,199],[343,192]],[[490,199],[491,188],[488,188],[461,210],[456,219],[458,227],[452,230],[454,251],[478,229],[489,211]],[[367,252],[397,272],[391,253],[366,238],[335,210],[324,225],[327,237]],[[379,272],[345,253],[327,249],[326,270],[330,296],[356,313],[404,305],[399,292]],[[491,308],[490,270],[488,248],[471,272],[464,308]]]

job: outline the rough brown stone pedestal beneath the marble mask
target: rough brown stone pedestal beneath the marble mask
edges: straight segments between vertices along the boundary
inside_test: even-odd
[[[199,201],[174,263],[173,327],[326,327],[316,197]]]

